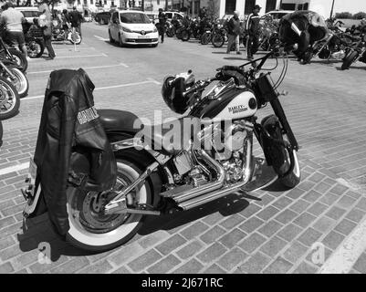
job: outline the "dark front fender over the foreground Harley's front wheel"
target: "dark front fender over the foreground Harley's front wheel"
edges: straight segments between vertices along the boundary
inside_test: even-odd
[[[260,142],[265,153],[267,165],[271,165],[275,172],[279,176],[282,176],[288,172],[290,162],[288,162],[285,147],[273,141],[283,141],[279,120],[277,116],[269,115],[262,120],[261,126]],[[269,134],[270,138],[267,134]]]

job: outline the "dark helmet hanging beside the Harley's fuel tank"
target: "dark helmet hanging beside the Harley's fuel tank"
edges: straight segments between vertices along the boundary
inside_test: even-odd
[[[190,96],[183,93],[194,84],[192,71],[177,76],[168,76],[162,82],[162,99],[176,113],[183,114],[189,107]]]

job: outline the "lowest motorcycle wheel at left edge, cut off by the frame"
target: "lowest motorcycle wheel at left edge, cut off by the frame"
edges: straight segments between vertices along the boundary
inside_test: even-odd
[[[20,106],[16,88],[5,78],[0,77],[0,120],[13,118]]]

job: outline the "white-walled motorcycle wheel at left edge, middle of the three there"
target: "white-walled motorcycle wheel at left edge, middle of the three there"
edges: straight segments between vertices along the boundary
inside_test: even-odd
[[[26,97],[28,94],[29,82],[26,75],[15,62],[0,60],[0,76],[14,85],[20,99]]]

